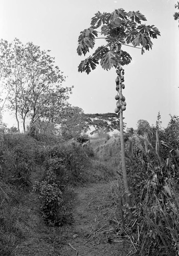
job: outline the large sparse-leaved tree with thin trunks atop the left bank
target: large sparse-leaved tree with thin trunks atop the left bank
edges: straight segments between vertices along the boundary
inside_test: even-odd
[[[56,94],[58,102],[65,102],[71,89],[62,88],[65,77],[57,66],[50,50],[42,51],[32,42],[23,45],[15,38],[12,43],[1,40],[1,67],[6,87],[10,90],[10,109],[15,111],[18,131],[19,116],[23,120],[24,132],[26,119],[33,124],[42,113],[43,106]],[[57,98],[56,98],[57,99]]]

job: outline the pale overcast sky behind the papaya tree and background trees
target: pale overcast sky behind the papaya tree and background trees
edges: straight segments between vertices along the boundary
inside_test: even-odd
[[[140,11],[146,25],[155,25],[161,36],[152,40],[152,51],[123,47],[132,57],[125,69],[127,127],[136,129],[139,119],[155,124],[160,111],[163,126],[169,114],[179,115],[179,29],[173,18],[176,11],[172,0],[0,0],[0,38],[23,44],[32,41],[41,50],[51,50],[56,64],[64,72],[63,86],[74,86],[70,102],[84,113],[113,113],[116,108],[116,71],[104,71],[100,66],[89,75],[78,73],[85,57],[77,55],[80,31],[90,27],[98,11]],[[100,41],[100,40],[99,40]],[[100,42],[98,41],[98,45]],[[103,44],[103,41],[101,41]],[[91,54],[91,53],[89,53]],[[4,118],[13,124],[12,117]],[[14,122],[15,124],[15,122]]]

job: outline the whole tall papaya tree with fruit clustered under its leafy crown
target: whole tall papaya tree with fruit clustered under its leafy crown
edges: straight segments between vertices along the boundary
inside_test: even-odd
[[[112,13],[97,12],[91,19],[91,27],[80,32],[78,38],[78,55],[86,55],[90,49],[93,49],[96,39],[102,38],[106,44],[98,47],[92,55],[82,60],[78,66],[79,72],[89,74],[100,63],[104,70],[116,68],[116,95],[117,108],[115,112],[120,116],[120,138],[121,138],[121,159],[123,182],[127,203],[131,206],[130,190],[127,180],[126,163],[125,163],[125,145],[123,133],[123,111],[126,109],[125,97],[122,94],[124,86],[124,65],[131,62],[131,56],[124,51],[125,46],[141,49],[144,54],[145,50],[152,49],[152,38],[160,35],[159,30],[154,25],[145,25],[146,17],[139,11],[126,12],[124,9],[116,9]],[[100,35],[100,37],[98,37]]]

